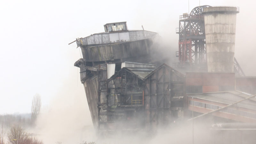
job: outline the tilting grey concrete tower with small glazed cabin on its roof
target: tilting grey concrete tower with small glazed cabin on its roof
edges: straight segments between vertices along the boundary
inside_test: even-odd
[[[82,50],[83,58],[74,64],[80,68],[80,79],[84,84],[92,122],[99,130],[106,130],[106,125],[110,124],[109,120],[107,121],[107,109],[110,105],[108,90],[113,84],[106,86],[107,80],[123,67],[152,66],[140,63],[152,63],[151,60],[156,59],[151,55],[151,50],[154,49],[153,40],[158,37],[155,32],[128,30],[126,22],[109,23],[104,25],[104,28],[103,33],[76,41],[77,47]],[[125,61],[137,63],[129,65]]]

